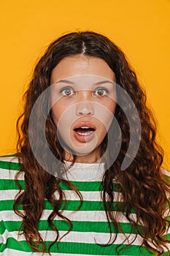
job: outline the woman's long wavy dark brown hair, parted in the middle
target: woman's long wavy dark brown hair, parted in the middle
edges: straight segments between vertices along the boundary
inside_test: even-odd
[[[134,157],[133,162],[125,170],[121,170],[123,159],[125,158],[130,136],[138,136],[138,127],[135,117],[130,116],[130,121],[133,127],[130,132],[129,123],[124,111],[119,105],[115,109],[115,118],[120,126],[122,142],[119,154],[110,167],[104,173],[102,182],[102,200],[106,211],[108,220],[110,239],[106,246],[113,244],[116,237],[111,232],[111,224],[115,226],[117,234],[120,226],[117,221],[117,215],[112,211],[114,200],[114,192],[112,188],[113,180],[120,186],[123,203],[117,204],[117,210],[122,211],[125,217],[131,222],[135,229],[136,235],[139,234],[143,238],[142,245],[146,246],[152,252],[158,255],[163,254],[164,250],[168,249],[168,239],[163,238],[166,233],[169,221],[166,219],[165,213],[169,208],[168,193],[169,181],[163,176],[161,165],[163,163],[163,150],[158,143],[156,143],[156,123],[151,111],[146,105],[146,95],[144,89],[139,85],[134,70],[125,59],[125,54],[112,41],[101,34],[93,31],[80,31],[63,35],[56,39],[47,48],[45,54],[39,59],[34,69],[34,74],[28,90],[25,93],[25,108],[23,114],[18,118],[18,158],[20,162],[20,171],[15,177],[18,184],[19,192],[15,197],[14,211],[23,218],[19,233],[26,236],[26,240],[35,252],[49,252],[50,248],[58,241],[58,229],[53,224],[53,219],[56,216],[61,217],[69,223],[69,230],[72,230],[72,222],[64,217],[63,211],[60,211],[61,203],[66,199],[63,190],[60,187],[60,178],[55,178],[52,174],[43,169],[39,162],[36,161],[33,151],[31,149],[28,137],[28,124],[31,115],[31,110],[34,107],[36,99],[42,94],[45,89],[50,86],[50,77],[52,70],[56,65],[67,56],[84,55],[93,56],[103,59],[107,62],[109,67],[115,72],[116,82],[123,90],[125,90],[131,97],[136,109],[139,113],[141,121],[141,139],[139,150]],[[131,111],[131,106],[125,102],[121,94],[117,94],[119,102],[124,101],[125,108]],[[42,131],[42,116],[47,113],[49,100],[44,99],[40,106],[40,111],[36,116],[36,128],[39,133]],[[42,131],[43,132],[43,131]],[[64,150],[59,143],[57,136],[57,127],[53,121],[51,113],[48,114],[45,127],[47,143],[50,150],[53,152],[61,162],[64,161]],[[131,134],[130,134],[131,133]],[[31,126],[29,134],[36,134],[36,129]],[[114,136],[114,135],[113,135]],[[117,135],[114,141],[114,148],[117,147]],[[106,148],[107,136],[102,142],[101,148]],[[41,136],[37,143],[37,150],[41,150],[42,159],[47,160],[46,148],[41,141]],[[114,151],[115,151],[114,149]],[[101,151],[101,155],[103,151]],[[113,153],[112,153],[113,154]],[[108,155],[111,156],[111,152]],[[131,158],[131,156],[129,156]],[[76,161],[74,156],[73,164]],[[20,173],[24,173],[26,188],[21,191],[18,177]],[[82,203],[82,196],[78,189],[74,187],[71,182],[64,181],[74,192],[80,197],[80,206]],[[56,200],[55,192],[58,192],[59,199]],[[45,248],[45,241],[38,231],[38,222],[42,216],[45,198],[53,206],[53,211],[47,219],[50,227],[55,230],[56,238],[49,248]],[[19,206],[23,206],[23,211],[19,210]],[[136,220],[131,219],[132,209],[136,212]],[[77,209],[78,211],[78,209]],[[139,223],[142,222],[142,229],[139,228]],[[22,232],[21,232],[22,230]],[[122,231],[123,232],[123,231]],[[117,236],[117,235],[116,235]],[[125,239],[128,239],[125,237]]]

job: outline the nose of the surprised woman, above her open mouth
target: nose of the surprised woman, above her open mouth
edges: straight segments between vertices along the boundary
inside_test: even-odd
[[[86,101],[86,102],[77,103],[76,113],[77,113],[77,116],[83,116],[83,115],[93,116],[94,114],[93,102]]]

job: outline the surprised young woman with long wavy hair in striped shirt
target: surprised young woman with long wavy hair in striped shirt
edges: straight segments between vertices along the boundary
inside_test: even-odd
[[[1,255],[170,255],[169,172],[122,51],[91,31],[52,42],[1,157]]]

